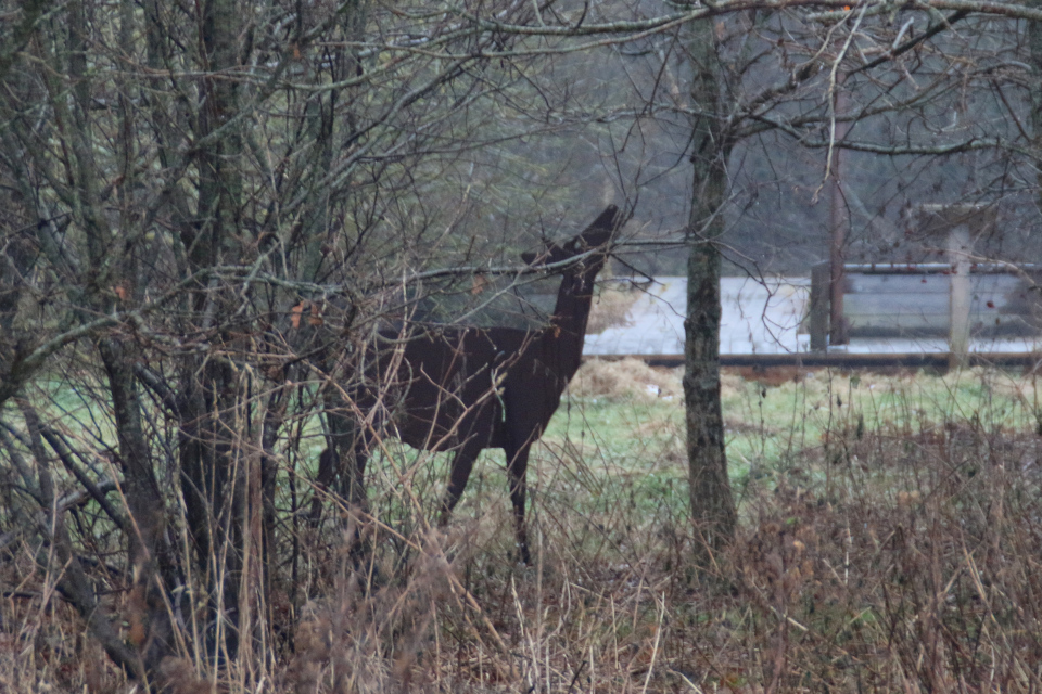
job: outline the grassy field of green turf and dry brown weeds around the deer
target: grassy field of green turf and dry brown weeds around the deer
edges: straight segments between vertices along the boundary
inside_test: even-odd
[[[691,562],[679,371],[592,362],[533,455],[534,567],[509,560],[499,451],[442,534],[444,457],[392,448],[382,578],[359,591],[335,535],[305,537],[313,599],[271,606],[293,638],[233,667],[188,653],[171,691],[1042,691],[1035,378],[746,376],[724,376],[741,527],[713,567]],[[16,593],[0,690],[127,691],[61,601]]]

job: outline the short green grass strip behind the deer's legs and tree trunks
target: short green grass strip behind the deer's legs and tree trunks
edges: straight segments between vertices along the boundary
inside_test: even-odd
[[[580,378],[584,372],[605,368],[612,367],[592,362]],[[537,496],[595,514],[607,513],[620,499],[644,511],[665,505],[672,513],[683,513],[687,462],[679,370],[648,370],[646,378],[657,378],[670,395],[649,397],[643,383],[628,381],[613,391],[566,394],[533,449],[529,477]],[[84,396],[86,387],[48,382],[39,399],[50,402],[48,411],[66,430],[112,444],[112,424]],[[722,403],[728,467],[739,500],[751,481],[776,484],[793,468],[802,468],[806,451],[829,452],[837,434],[904,436],[953,422],[991,430],[1032,430],[1040,421],[1034,381],[991,369],[946,375],[818,370],[777,386],[725,374]],[[302,472],[314,475],[325,444],[317,423],[305,429],[309,434],[301,439],[298,464]],[[396,442],[389,444],[389,451],[395,458],[393,466],[379,455],[370,463],[374,501],[381,499],[381,489],[384,498],[393,497],[407,476],[415,496],[432,513],[448,476],[449,457],[418,453]],[[503,452],[485,451],[461,510],[487,510],[487,494],[506,503],[506,488]]]

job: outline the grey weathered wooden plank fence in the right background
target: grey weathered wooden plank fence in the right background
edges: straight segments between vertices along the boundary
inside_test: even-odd
[[[968,262],[960,266],[843,266],[847,335],[949,337],[955,352],[969,337],[1032,336],[1042,332],[1042,267]],[[824,349],[827,344],[828,283],[828,264],[815,266],[811,274],[812,349]]]

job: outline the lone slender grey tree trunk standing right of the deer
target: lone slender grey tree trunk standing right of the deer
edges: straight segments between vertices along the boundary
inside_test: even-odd
[[[727,187],[727,153],[721,117],[721,63],[712,20],[691,23],[694,189],[688,226],[687,318],[684,321],[684,402],[696,555],[703,566],[735,534],[737,513],[727,479],[720,403],[720,270],[716,244]]]

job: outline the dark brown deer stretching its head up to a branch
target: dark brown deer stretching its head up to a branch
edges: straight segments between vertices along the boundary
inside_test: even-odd
[[[363,412],[381,408],[374,429],[414,448],[455,451],[452,477],[442,504],[441,524],[463,493],[474,460],[485,448],[507,457],[520,558],[530,563],[524,520],[529,449],[543,435],[579,369],[594,280],[608,258],[608,246],[621,222],[609,206],[583,233],[545,253],[524,254],[525,262],[566,266],[549,325],[537,331],[512,327],[441,325],[403,338],[382,333],[369,352],[365,373],[385,385],[348,389]],[[358,479],[365,471],[371,435],[358,437]]]

